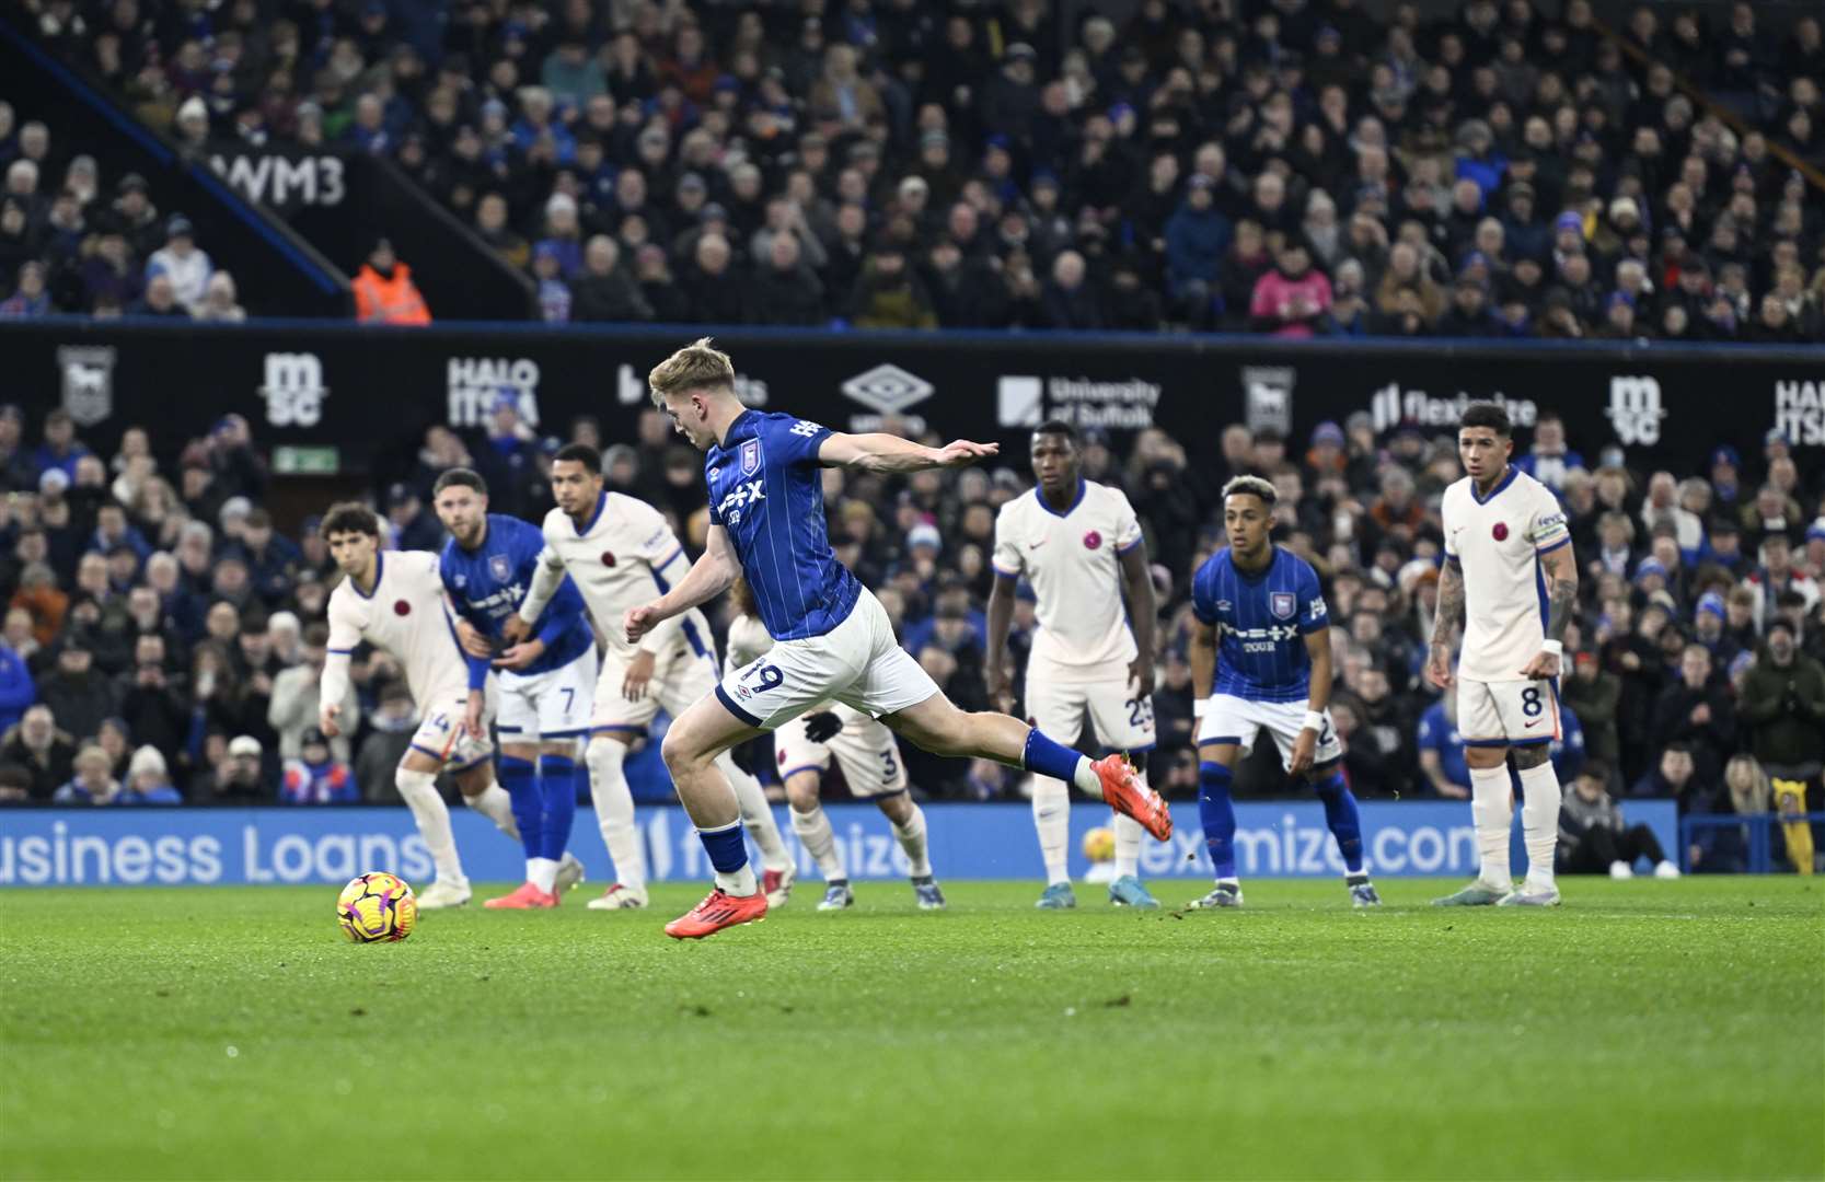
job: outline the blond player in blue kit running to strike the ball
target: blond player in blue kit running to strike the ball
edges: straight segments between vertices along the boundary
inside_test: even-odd
[[[706,452],[710,533],[684,578],[628,609],[628,642],[715,598],[737,576],[746,576],[756,613],[774,637],[770,651],[732,669],[666,731],[666,768],[715,868],[715,888],[668,923],[668,936],[710,936],[766,916],[766,896],[741,841],[735,792],[714,761],[830,699],[878,717],[936,755],[993,759],[1075,783],[1155,837],[1172,834],[1166,803],[1121,755],[1091,762],[1015,717],[958,710],[900,648],[880,600],[830,549],[821,469],[896,474],[962,467],[993,456],[995,443],[923,447],[750,410],[735,398],[735,367],[708,337],[653,367],[648,385],[673,429]]]

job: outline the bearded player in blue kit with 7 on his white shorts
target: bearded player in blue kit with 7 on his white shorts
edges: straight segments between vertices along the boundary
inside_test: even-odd
[[[469,469],[449,469],[433,485],[438,520],[451,531],[438,575],[456,611],[458,640],[471,657],[493,657],[500,669],[500,786],[526,846],[526,883],[484,907],[526,910],[557,907],[558,877],[577,859],[566,854],[582,764],[577,746],[589,735],[597,658],[582,595],[569,578],[538,617],[531,637],[507,627],[533,586],[544,533],[518,518],[487,511],[487,483]],[[515,642],[516,640],[516,642]],[[496,644],[507,648],[496,653]],[[469,719],[480,728],[487,666],[471,662]],[[580,874],[566,874],[575,886]]]

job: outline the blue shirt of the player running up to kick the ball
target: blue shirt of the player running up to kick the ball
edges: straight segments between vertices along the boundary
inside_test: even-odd
[[[861,596],[825,527],[818,447],[829,436],[790,414],[745,410],[703,461],[710,522],[728,531],[774,640],[821,637]]]

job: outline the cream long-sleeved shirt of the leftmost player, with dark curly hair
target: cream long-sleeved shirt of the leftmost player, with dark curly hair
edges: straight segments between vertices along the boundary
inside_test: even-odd
[[[469,662],[456,642],[431,551],[381,551],[374,556],[374,591],[361,595],[352,578],[330,591],[328,673],[347,671],[349,653],[363,640],[405,668],[405,684],[418,710],[469,697]],[[352,728],[354,721],[345,719]]]

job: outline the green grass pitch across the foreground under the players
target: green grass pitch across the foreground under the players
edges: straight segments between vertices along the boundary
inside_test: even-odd
[[[586,888],[374,947],[330,888],[9,890],[0,1175],[1825,1175],[1825,883],[1444,886],[1172,916],[863,885],[825,916],[805,885],[683,945],[695,890]]]

